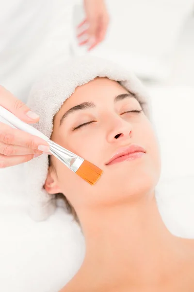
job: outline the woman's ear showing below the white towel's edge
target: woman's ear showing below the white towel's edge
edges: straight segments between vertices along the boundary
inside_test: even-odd
[[[44,187],[45,187],[46,191],[48,192],[48,194],[62,193],[62,191],[58,185],[57,176],[56,176],[56,174],[51,166],[49,167],[49,172],[48,172]]]

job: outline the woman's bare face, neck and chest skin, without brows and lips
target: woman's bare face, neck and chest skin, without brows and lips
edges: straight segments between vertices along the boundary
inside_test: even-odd
[[[162,221],[154,191],[158,141],[144,112],[134,112],[141,110],[135,97],[114,102],[125,93],[117,82],[96,78],[78,87],[54,118],[52,140],[104,171],[90,186],[51,157],[45,189],[65,194],[86,243],[80,270],[60,292],[193,292],[194,240],[172,235]],[[60,126],[64,113],[83,102],[95,106],[69,114]],[[131,144],[146,154],[106,165]]]

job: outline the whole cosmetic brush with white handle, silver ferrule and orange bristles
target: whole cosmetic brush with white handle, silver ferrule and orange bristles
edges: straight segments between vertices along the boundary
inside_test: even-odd
[[[44,139],[50,146],[49,152],[58,158],[69,169],[79,175],[87,183],[90,183],[91,185],[95,184],[102,175],[103,171],[96,165],[51,141],[46,135],[33,128],[32,126],[24,123],[9,110],[6,110],[1,106],[0,116],[15,128]]]

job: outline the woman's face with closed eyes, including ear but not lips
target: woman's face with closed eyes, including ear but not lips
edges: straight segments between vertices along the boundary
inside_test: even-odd
[[[79,206],[111,205],[153,192],[160,176],[160,155],[151,123],[141,105],[120,84],[96,78],[78,87],[54,118],[51,139],[103,170],[90,185],[52,156],[46,189],[62,192]],[[139,112],[140,111],[140,112]],[[108,164],[130,145],[143,147],[141,157]]]

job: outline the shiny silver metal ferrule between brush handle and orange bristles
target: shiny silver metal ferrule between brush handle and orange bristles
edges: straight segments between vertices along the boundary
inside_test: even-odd
[[[48,140],[47,142],[50,146],[50,153],[52,153],[56,158],[58,158],[63,164],[65,164],[74,172],[76,172],[79,169],[79,167],[84,161],[83,158],[51,140]]]

